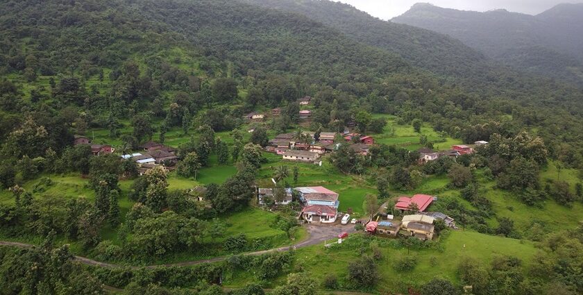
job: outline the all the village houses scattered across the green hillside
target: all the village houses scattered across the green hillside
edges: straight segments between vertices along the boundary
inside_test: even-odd
[[[298,99],[300,106],[310,104],[310,96]],[[277,117],[281,108],[271,110],[267,116],[260,112],[251,112],[244,116],[248,124],[264,121],[268,117]],[[310,110],[301,110],[299,117],[303,122],[310,121]],[[355,155],[369,155],[371,147],[375,146],[375,138],[372,135],[357,133],[355,123],[348,123],[343,132],[334,131],[302,131],[295,133],[280,133],[269,139],[264,152],[279,155],[283,162],[298,162],[303,165],[323,164],[323,158],[330,153],[335,153],[341,146],[348,146]],[[254,128],[249,130],[253,133]],[[75,136],[75,145],[90,145],[93,155],[106,155],[115,153],[115,149],[109,144],[94,144],[89,137]],[[473,146],[484,146],[485,141],[475,142]],[[474,152],[472,146],[454,144],[450,149],[434,151],[426,147],[418,149],[418,165],[438,160],[441,157],[457,158],[460,155],[470,155]],[[174,171],[180,160],[177,149],[160,144],[158,142],[145,142],[140,144],[139,150],[133,153],[119,155],[123,160],[131,160],[137,165],[140,176],[154,167],[163,167],[166,171]],[[309,226],[353,226],[355,230],[379,237],[398,238],[416,237],[421,240],[431,240],[436,234],[436,222],[447,228],[457,229],[453,218],[442,212],[433,212],[430,206],[438,201],[437,196],[427,194],[414,194],[413,196],[398,196],[394,199],[394,205],[389,208],[389,201],[378,205],[378,211],[371,216],[352,214],[352,212],[339,211],[339,194],[323,186],[315,187],[283,187],[281,183],[271,179],[271,186],[255,187],[255,203],[267,210],[277,210],[280,206],[292,203],[299,205],[296,212],[298,224]],[[196,201],[205,202],[206,188],[202,186],[189,189],[189,195]],[[352,210],[350,210],[352,211]],[[353,230],[354,231],[354,230]],[[348,237],[348,233],[341,232],[337,235],[339,242]]]

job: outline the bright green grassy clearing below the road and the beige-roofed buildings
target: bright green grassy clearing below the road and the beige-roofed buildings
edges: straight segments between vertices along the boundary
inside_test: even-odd
[[[349,237],[350,239],[350,237]],[[390,292],[407,292],[409,286],[419,286],[434,277],[446,278],[459,283],[457,278],[457,266],[462,259],[475,258],[483,264],[489,264],[496,255],[514,255],[529,264],[537,253],[537,249],[531,242],[522,242],[518,239],[483,235],[472,231],[456,230],[441,239],[442,249],[411,250],[407,254],[406,248],[382,247],[382,260],[378,261],[378,272],[381,280],[378,287],[370,291],[381,294]],[[366,253],[370,254],[367,249]],[[405,255],[414,255],[418,264],[413,271],[398,272],[392,267],[394,261]],[[292,269],[304,269],[310,276],[320,282],[328,273],[334,273],[340,283],[346,282],[347,267],[349,262],[359,258],[361,254],[353,248],[326,249],[323,244],[300,248],[296,251],[296,262]],[[432,258],[433,257],[433,258]],[[437,263],[432,265],[430,260]],[[240,287],[250,276],[235,277],[226,280],[227,287]],[[285,282],[285,276],[271,282],[270,285],[278,285]]]

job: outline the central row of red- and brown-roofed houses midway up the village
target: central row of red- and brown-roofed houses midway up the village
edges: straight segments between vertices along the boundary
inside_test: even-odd
[[[335,132],[321,132],[316,140],[316,133],[304,132],[310,142],[301,142],[295,138],[294,133],[282,133],[269,140],[266,151],[282,155],[283,160],[296,162],[318,162],[321,155],[339,149],[341,144],[349,144],[350,149],[360,155],[369,153],[371,145],[375,143],[371,136],[357,133],[345,133],[344,142],[334,142]],[[356,143],[355,143],[356,142]]]

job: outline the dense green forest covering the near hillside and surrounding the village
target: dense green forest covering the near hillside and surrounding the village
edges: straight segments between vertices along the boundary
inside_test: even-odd
[[[487,179],[532,208],[550,200],[563,207],[580,203],[580,186],[573,194],[564,181],[539,180],[549,162],[557,163],[559,174],[560,169],[583,169],[580,88],[492,65],[451,37],[382,22],[346,10],[343,4],[274,3],[0,3],[0,189],[13,197],[0,203],[0,233],[9,239],[44,240],[34,248],[0,248],[0,287],[6,294],[101,294],[101,283],[126,288],[127,294],[223,294],[209,284],[223,279],[223,273],[237,272],[253,273],[250,276],[261,283],[275,281],[296,259],[293,252],[234,255],[221,264],[180,271],[99,269],[74,263],[68,246],[56,246],[56,237],[74,241],[76,251],[93,258],[122,264],[147,264],[185,252],[200,258],[280,246],[269,239],[248,242],[243,234],[223,237],[226,225],[219,219],[242,212],[255,197],[257,171],[266,161],[261,151],[269,140],[265,127],[271,133],[293,130],[299,140],[304,140],[299,128],[319,133],[355,126],[363,134],[380,134],[387,116],[397,124],[410,124],[416,133],[425,124],[443,138],[490,144],[473,156],[444,158],[423,167],[417,165],[419,153],[403,146],[378,144],[366,157],[341,147],[330,155],[339,174],[373,183],[379,200],[387,198],[389,187],[419,187],[425,176],[451,180],[450,187],[474,209],[444,199],[439,210],[478,233],[539,242],[546,253],[532,262],[534,271],[527,275],[512,258],[497,258],[485,267],[468,261],[459,267],[459,282],[480,286],[482,291],[476,287],[475,294],[583,290],[581,226],[553,235],[523,235],[512,221],[496,217],[479,181]],[[306,95],[312,96],[309,123],[298,118],[296,103]],[[276,107],[281,116],[254,128],[245,140],[242,116]],[[105,137],[120,142],[120,153],[141,149],[150,140],[163,143],[170,131],[179,133],[185,141],[174,146],[178,176],[196,178],[201,167],[210,167],[215,159],[232,164],[233,175],[223,183],[205,185],[207,208],[189,202],[184,189],[169,189],[171,176],[164,169],[138,176],[131,160],[115,154],[94,156],[90,146],[73,145],[74,135],[90,130],[105,130]],[[432,147],[438,142],[425,137],[419,144]],[[280,178],[291,174],[275,172]],[[47,175],[81,176],[87,180],[83,189],[94,200],[38,197],[56,186]],[[37,183],[24,189],[31,180]],[[131,183],[122,187],[121,180]],[[121,217],[118,204],[126,192],[124,201],[132,205]],[[286,239],[294,237],[296,228],[289,211],[269,224]],[[496,226],[487,221],[492,216]],[[115,243],[101,239],[103,228],[115,235]],[[348,246],[354,253],[357,248],[364,249],[362,253],[378,248],[378,242],[367,237],[353,241]],[[382,246],[439,249],[437,243],[405,243],[395,240]],[[345,289],[371,290],[362,275],[375,268],[368,259],[363,256],[350,264]],[[313,294],[305,289],[314,292],[319,282],[300,271],[287,276],[289,288],[276,287],[274,294]],[[326,289],[337,289],[335,282],[330,278]],[[435,280],[416,287],[423,288],[421,294],[436,294],[432,288],[450,285]],[[252,284],[230,294],[263,290]]]

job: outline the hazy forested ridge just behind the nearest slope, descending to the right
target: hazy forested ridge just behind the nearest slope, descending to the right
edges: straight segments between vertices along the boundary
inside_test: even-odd
[[[534,71],[534,74],[528,74],[527,70],[533,67],[532,64],[528,67],[500,65],[500,62],[486,58],[445,35],[420,30],[413,26],[385,22],[344,3],[329,0],[240,1],[295,12],[310,17],[316,22],[323,22],[345,33],[353,40],[398,53],[412,65],[437,74],[443,81],[461,85],[466,92],[487,96],[512,96],[514,99],[524,99],[532,103],[539,100],[533,97],[554,97],[556,90],[562,92],[559,88],[571,88],[562,85],[563,81],[555,82],[541,78],[548,72],[541,74],[539,71]],[[532,56],[529,61],[539,62],[541,58],[548,58],[548,56]],[[546,65],[546,68],[555,69],[557,65],[571,65],[570,60],[573,58],[567,60],[561,60],[561,58],[564,57],[559,56],[556,60],[547,60],[550,63]],[[569,69],[575,73],[578,71],[576,68]],[[568,76],[566,81],[573,81],[573,76]],[[579,79],[575,78],[575,83],[578,82]],[[572,91],[568,90],[568,92]],[[576,104],[574,107],[570,109],[578,108]]]

